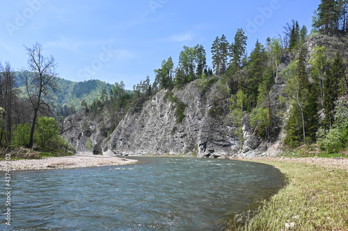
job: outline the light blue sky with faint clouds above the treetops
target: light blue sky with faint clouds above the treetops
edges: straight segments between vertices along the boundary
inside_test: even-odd
[[[237,28],[257,39],[283,33],[292,19],[311,28],[320,0],[15,0],[0,8],[0,61],[27,67],[25,46],[38,42],[54,56],[61,78],[123,80],[127,89],[154,79],[161,61],[175,65],[183,46],[202,44],[211,66],[216,36],[232,42]]]

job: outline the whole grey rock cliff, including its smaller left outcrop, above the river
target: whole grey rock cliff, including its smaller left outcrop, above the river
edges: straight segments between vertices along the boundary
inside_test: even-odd
[[[167,90],[161,90],[146,101],[139,112],[129,110],[118,123],[111,135],[103,134],[102,129],[111,129],[112,115],[105,114],[97,119],[86,115],[75,115],[79,120],[66,137],[77,151],[91,151],[87,142],[93,144],[95,152],[104,155],[173,155],[193,154],[198,157],[219,157],[233,155],[239,149],[234,128],[224,126],[228,108],[221,114],[211,116],[212,99],[216,85],[206,93],[200,91],[200,81],[196,80],[182,89],[173,89],[173,95],[187,107],[186,117],[177,123],[175,103],[164,99]],[[105,133],[105,132],[104,132]],[[106,132],[107,133],[107,132]]]

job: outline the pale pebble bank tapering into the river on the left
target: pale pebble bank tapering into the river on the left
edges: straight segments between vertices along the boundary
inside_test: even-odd
[[[39,160],[10,160],[0,161],[0,171],[26,171],[48,169],[76,169],[95,166],[114,166],[136,164],[137,160],[102,155],[70,155],[65,157],[49,157]]]

